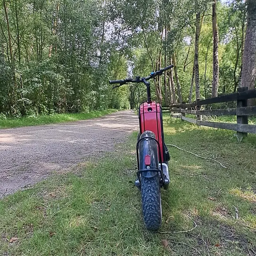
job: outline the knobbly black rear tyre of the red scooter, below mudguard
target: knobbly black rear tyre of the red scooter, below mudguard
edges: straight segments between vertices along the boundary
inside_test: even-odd
[[[148,230],[158,230],[162,223],[160,180],[141,176],[142,212]]]

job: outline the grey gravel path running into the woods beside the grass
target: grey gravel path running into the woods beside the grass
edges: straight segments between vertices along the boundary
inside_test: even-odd
[[[137,129],[137,116],[126,110],[67,124],[0,130],[0,195],[111,151]]]

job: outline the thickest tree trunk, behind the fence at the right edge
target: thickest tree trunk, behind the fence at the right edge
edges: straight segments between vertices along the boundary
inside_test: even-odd
[[[244,42],[242,87],[255,88],[256,82],[256,1],[247,0],[247,24]],[[249,99],[248,105],[255,105],[255,99]]]

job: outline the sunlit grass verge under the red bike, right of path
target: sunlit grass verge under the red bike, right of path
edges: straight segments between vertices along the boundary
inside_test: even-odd
[[[0,255],[254,255],[256,136],[249,134],[239,144],[232,131],[168,117],[164,126],[167,144],[215,158],[228,169],[170,147],[171,182],[169,190],[162,190],[163,233],[148,232],[143,224],[134,187],[134,133],[126,144],[118,144],[115,154],[3,198]],[[190,230],[192,220],[194,230],[174,233]],[[11,237],[18,240],[10,243]]]

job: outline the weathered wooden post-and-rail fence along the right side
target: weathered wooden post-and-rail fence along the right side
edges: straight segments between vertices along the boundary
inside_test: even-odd
[[[256,98],[256,90],[248,90],[247,87],[238,88],[238,92],[209,98],[206,100],[197,99],[195,102],[188,104],[171,104],[171,116],[181,118],[187,122],[209,126],[214,128],[221,128],[227,130],[234,130],[240,134],[247,135],[247,133],[256,133],[256,125],[248,124],[248,116],[256,115],[256,106],[247,106],[248,99]],[[222,108],[201,110],[201,107],[206,104],[214,104],[220,102],[236,101],[236,108]],[[195,110],[193,110],[193,108]],[[175,115],[173,113],[181,113]],[[186,114],[196,115],[196,119],[186,117]],[[202,120],[204,116],[237,116],[237,123],[227,122],[208,122]]]

